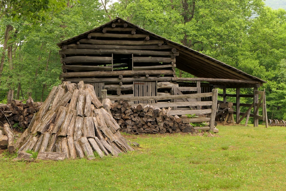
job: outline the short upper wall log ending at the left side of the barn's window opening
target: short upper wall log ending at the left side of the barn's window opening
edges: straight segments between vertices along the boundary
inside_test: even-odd
[[[107,56],[71,56],[61,58],[61,63],[63,62],[65,62],[66,64],[89,62],[111,63],[112,58]]]

